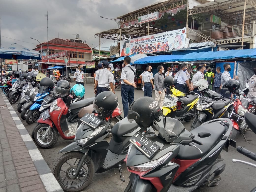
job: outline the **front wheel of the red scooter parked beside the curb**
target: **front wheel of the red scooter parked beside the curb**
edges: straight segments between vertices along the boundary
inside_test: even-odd
[[[50,135],[50,141],[47,140],[47,142],[45,142],[46,139],[44,141],[42,141],[42,137],[43,137],[45,131],[48,129],[48,127],[49,127],[48,124],[38,123],[32,132],[36,144],[44,149],[49,149],[49,148],[53,147],[57,143],[58,137],[59,137],[57,129],[53,128],[53,129],[49,130],[49,132],[48,132],[48,135]]]

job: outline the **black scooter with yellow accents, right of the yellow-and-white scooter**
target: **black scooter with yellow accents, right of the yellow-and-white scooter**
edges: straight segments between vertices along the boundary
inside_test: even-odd
[[[197,114],[190,126],[191,131],[211,119],[228,118],[227,108],[231,105],[231,101],[208,88],[203,90],[196,104]]]

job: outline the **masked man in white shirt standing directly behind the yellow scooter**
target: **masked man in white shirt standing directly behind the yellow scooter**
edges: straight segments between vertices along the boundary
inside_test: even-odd
[[[174,79],[176,79],[177,81],[175,88],[183,93],[186,93],[187,87],[189,91],[192,90],[192,87],[189,84],[187,73],[185,72],[186,70],[187,70],[187,66],[182,64],[180,66],[179,72],[177,72],[174,76]]]

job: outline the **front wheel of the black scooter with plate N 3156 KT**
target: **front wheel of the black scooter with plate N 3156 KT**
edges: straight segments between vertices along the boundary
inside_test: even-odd
[[[81,191],[92,182],[95,168],[89,156],[83,163],[78,176],[74,178],[72,175],[76,171],[83,155],[81,152],[68,152],[62,155],[55,163],[52,173],[64,191]]]

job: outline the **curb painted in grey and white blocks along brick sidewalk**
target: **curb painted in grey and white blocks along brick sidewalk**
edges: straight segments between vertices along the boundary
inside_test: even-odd
[[[9,103],[8,99],[6,98],[5,94],[1,92],[2,97],[4,98],[4,102],[6,103],[6,106],[16,124],[16,127],[20,133],[20,136],[22,137],[22,140],[24,141],[28,153],[36,167],[36,170],[39,174],[39,177],[42,180],[42,183],[45,186],[45,190],[47,192],[59,192],[63,191],[60,187],[59,183],[57,182],[54,175],[51,173],[50,168],[46,164],[44,158],[42,157],[40,151],[38,150],[37,146],[35,145],[34,141],[28,134],[26,128],[24,127],[23,123],[20,121],[17,113],[14,111],[12,105]]]

